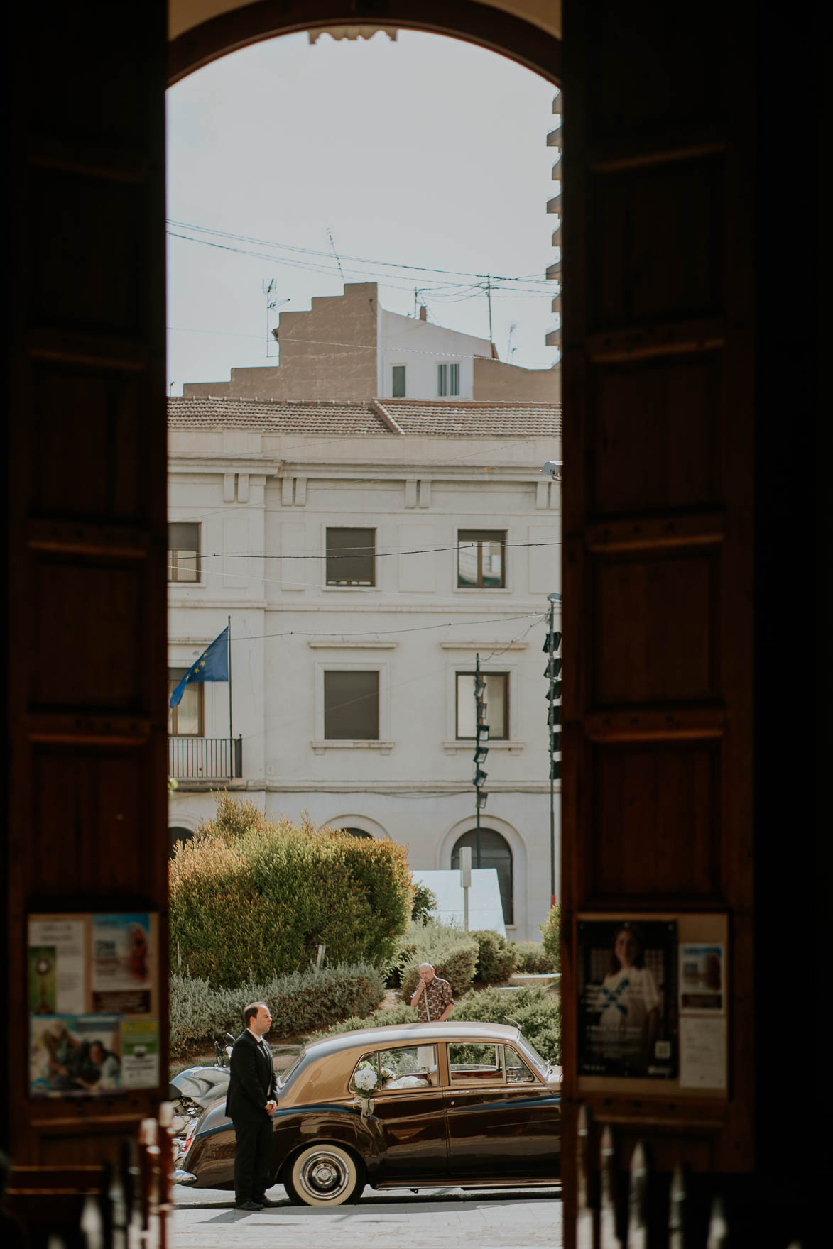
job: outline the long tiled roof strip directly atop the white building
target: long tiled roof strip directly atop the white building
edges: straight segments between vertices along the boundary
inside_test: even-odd
[[[385,420],[386,417],[386,420]],[[558,403],[488,403],[478,400],[385,398],[371,403],[283,400],[169,398],[170,430],[251,430],[434,438],[558,437]]]

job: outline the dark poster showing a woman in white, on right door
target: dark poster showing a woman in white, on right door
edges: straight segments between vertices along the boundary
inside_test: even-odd
[[[578,922],[579,1075],[674,1079],[677,923]]]

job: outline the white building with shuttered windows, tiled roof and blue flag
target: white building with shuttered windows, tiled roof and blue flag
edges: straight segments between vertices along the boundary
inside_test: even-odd
[[[391,837],[414,869],[457,866],[475,843],[479,654],[482,866],[498,868],[508,934],[538,938],[542,646],[560,591],[560,485],[539,470],[562,457],[560,408],[181,398],[169,412],[170,679],[230,618],[235,739],[228,683],[191,686],[171,714],[171,834],[225,787],[269,814]],[[223,779],[235,752],[241,774]],[[557,796],[557,854],[559,841]]]

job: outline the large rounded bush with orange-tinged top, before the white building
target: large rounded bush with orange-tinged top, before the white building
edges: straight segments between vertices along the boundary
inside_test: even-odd
[[[384,965],[411,908],[405,848],[268,819],[221,794],[170,864],[171,949],[213,988],[330,964]]]

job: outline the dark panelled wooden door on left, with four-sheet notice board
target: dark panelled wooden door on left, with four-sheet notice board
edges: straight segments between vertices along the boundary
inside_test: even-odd
[[[6,15],[3,1134],[34,1167],[114,1157],[161,1089],[28,1097],[29,913],[160,913],[166,1070],[165,16]]]

